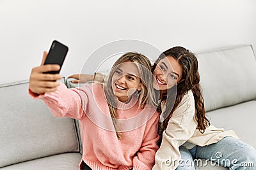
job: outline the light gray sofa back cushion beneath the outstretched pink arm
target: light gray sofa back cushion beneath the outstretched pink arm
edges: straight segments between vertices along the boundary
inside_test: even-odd
[[[72,118],[55,118],[28,83],[0,85],[0,167],[66,152],[79,152]]]

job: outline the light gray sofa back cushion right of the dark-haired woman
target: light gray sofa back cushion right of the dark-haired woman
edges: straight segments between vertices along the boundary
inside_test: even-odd
[[[256,60],[252,46],[198,53],[205,111],[256,98]]]

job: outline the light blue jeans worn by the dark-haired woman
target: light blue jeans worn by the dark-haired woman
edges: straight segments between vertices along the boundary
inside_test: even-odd
[[[176,170],[195,169],[195,164],[205,166],[206,163],[200,164],[198,159],[206,159],[207,164],[221,165],[229,169],[256,169],[255,148],[236,138],[225,137],[218,143],[195,146],[191,150],[186,150],[184,146],[180,146],[179,149],[182,161]]]

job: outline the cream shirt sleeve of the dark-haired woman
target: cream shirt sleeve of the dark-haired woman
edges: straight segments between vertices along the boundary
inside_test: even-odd
[[[183,97],[179,106],[163,132],[163,139],[156,153],[153,169],[176,169],[179,166],[179,146],[193,136],[197,122],[195,120],[195,101],[191,91]]]

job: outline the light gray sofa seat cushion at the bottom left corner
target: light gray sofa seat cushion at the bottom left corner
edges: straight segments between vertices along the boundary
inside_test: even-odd
[[[63,153],[6,166],[1,170],[76,170],[81,159],[82,155],[80,153]]]

